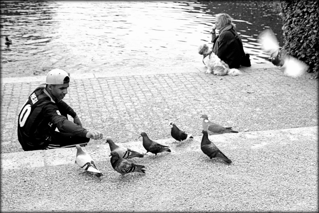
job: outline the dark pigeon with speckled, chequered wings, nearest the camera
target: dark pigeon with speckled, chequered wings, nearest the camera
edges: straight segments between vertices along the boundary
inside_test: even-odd
[[[116,151],[112,151],[109,156],[111,157],[111,165],[114,170],[121,174],[120,178],[123,178],[125,174],[131,172],[140,172],[145,174],[145,166],[136,165],[124,158],[120,157]]]

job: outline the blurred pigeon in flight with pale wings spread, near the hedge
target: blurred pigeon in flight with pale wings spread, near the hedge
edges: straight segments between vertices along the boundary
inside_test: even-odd
[[[278,40],[271,28],[265,29],[261,32],[258,35],[258,39],[263,51],[270,54],[271,62],[275,66],[282,67],[286,75],[298,77],[307,71],[307,64],[290,55],[282,53],[283,51],[280,51]]]

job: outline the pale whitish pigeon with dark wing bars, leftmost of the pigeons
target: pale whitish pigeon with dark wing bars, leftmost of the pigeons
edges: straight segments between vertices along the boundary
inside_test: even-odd
[[[76,145],[77,147],[77,156],[75,159],[75,163],[78,164],[84,171],[93,172],[95,176],[98,178],[103,176],[103,174],[96,168],[94,161],[88,153],[83,152],[80,145]],[[82,171],[82,172],[84,172]]]

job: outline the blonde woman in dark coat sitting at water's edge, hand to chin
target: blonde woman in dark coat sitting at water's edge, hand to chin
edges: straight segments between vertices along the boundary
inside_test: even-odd
[[[219,30],[216,36],[215,30]],[[237,38],[239,39],[237,39]],[[232,18],[226,13],[219,13],[215,17],[215,25],[212,26],[211,42],[213,52],[225,61],[229,68],[238,68],[243,56],[242,41],[236,32],[236,25]]]

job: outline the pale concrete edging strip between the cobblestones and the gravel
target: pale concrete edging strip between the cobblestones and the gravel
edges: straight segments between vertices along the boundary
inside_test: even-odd
[[[297,134],[296,137],[302,137],[300,132],[310,132],[310,134],[318,137],[318,126],[310,126],[310,127],[298,127],[298,128],[289,128],[289,129],[280,129],[280,130],[264,130],[264,131],[247,131],[247,132],[239,132],[236,134],[227,133],[221,135],[211,135],[209,139],[213,141],[218,146],[227,146],[227,144],[231,143],[232,140],[235,140],[238,137],[246,137],[256,138],[259,137],[274,137],[276,134],[283,134],[285,132],[289,132],[290,134]],[[259,136],[258,136],[259,135]],[[152,134],[149,134],[149,137],[152,139]],[[106,141],[107,138],[103,139]],[[196,147],[196,150],[200,151],[200,141],[202,136],[196,136],[194,139],[188,139],[183,142],[176,142],[173,138],[165,138],[165,139],[152,139],[162,145],[170,146],[172,150],[172,154],[176,154],[175,148],[176,146],[180,146],[181,143],[187,146]],[[136,152],[145,153],[146,150],[142,144],[142,138],[137,141],[130,141],[126,143],[120,143],[114,141],[119,146],[124,146],[126,148],[130,148]],[[253,142],[255,143],[255,142]],[[109,146],[108,144],[95,145],[95,146],[86,146],[83,147],[83,151],[89,153],[93,160],[96,162],[103,161],[106,158],[109,158]],[[152,153],[147,153],[154,156]],[[72,164],[75,162],[76,156],[76,148],[62,148],[62,149],[52,149],[52,150],[34,150],[27,152],[16,152],[16,153],[1,153],[1,169],[21,169],[21,168],[34,168],[34,167],[44,167],[44,166],[56,166],[62,164]]]

